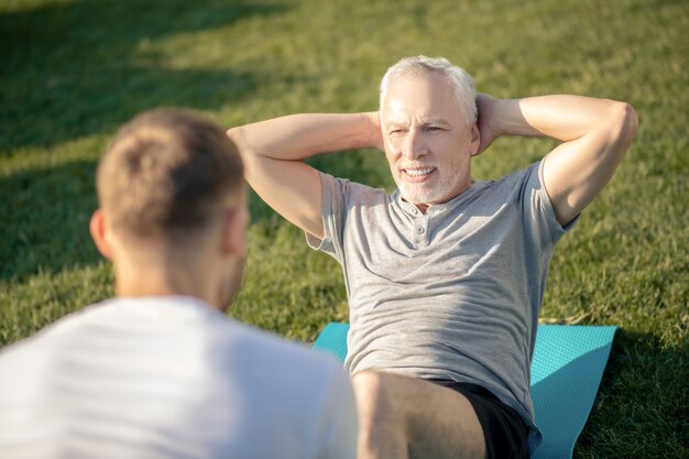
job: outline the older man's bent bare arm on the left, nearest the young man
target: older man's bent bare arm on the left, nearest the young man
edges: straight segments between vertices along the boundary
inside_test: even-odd
[[[322,239],[321,190],[318,172],[303,160],[319,153],[375,147],[378,114],[305,113],[239,128],[228,135],[244,161],[251,187],[275,211]]]

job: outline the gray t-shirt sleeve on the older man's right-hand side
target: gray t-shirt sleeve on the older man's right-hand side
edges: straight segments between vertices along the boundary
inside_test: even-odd
[[[532,164],[526,171],[520,199],[524,206],[525,223],[545,248],[554,247],[571,230],[579,217],[562,227],[555,216],[553,201],[543,181],[544,161]]]

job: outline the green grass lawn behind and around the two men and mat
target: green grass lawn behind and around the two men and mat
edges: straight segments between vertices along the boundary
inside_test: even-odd
[[[445,55],[497,97],[626,100],[641,129],[560,243],[543,316],[619,325],[577,458],[689,457],[689,6],[678,1],[6,0],[0,4],[0,346],[112,294],[87,230],[94,171],[119,124],[165,105],[230,127],[371,110],[411,54]],[[551,142],[503,139],[496,177]],[[372,151],[319,157],[391,187]],[[347,319],[335,261],[255,196],[248,277],[230,315],[311,341]]]

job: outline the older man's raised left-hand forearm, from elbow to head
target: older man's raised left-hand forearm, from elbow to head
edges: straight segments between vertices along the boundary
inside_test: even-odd
[[[228,131],[243,154],[298,161],[319,153],[376,146],[371,113],[303,113]],[[378,129],[380,131],[380,128]]]

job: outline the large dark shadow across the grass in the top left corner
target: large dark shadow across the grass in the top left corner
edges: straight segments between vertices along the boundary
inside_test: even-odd
[[[255,89],[254,75],[171,68],[155,42],[282,10],[237,0],[100,0],[0,14],[0,151],[113,130],[152,107],[237,102]],[[229,59],[232,43],[222,53]]]

